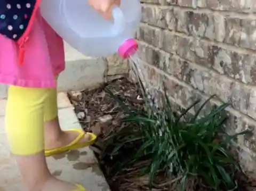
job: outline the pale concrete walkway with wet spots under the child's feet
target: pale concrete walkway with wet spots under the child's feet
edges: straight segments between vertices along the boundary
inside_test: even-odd
[[[63,129],[81,128],[66,94],[59,93],[59,115]],[[0,191],[26,191],[22,188],[19,171],[10,154],[5,130],[4,108],[6,100],[0,100]],[[14,119],[15,120],[15,117]],[[80,183],[88,191],[109,191],[108,184],[89,148],[48,157],[47,163],[54,176],[69,182]],[[33,168],[33,167],[31,167]]]

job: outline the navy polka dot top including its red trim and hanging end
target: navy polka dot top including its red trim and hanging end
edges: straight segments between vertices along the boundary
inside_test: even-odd
[[[17,41],[18,64],[24,61],[26,42],[40,0],[0,0],[0,34]]]

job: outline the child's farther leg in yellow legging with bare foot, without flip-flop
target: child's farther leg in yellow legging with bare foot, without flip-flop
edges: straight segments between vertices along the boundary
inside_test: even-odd
[[[45,148],[58,148],[66,146],[78,137],[78,132],[62,131],[58,119],[57,89],[50,89],[44,108],[44,135]],[[85,135],[79,142],[87,142],[90,135]]]

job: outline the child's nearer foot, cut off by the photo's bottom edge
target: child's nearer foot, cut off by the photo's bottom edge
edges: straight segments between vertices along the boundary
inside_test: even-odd
[[[43,186],[42,191],[83,191],[83,189],[78,188],[76,185],[70,184],[69,182],[58,180],[57,178],[50,178],[47,180]]]

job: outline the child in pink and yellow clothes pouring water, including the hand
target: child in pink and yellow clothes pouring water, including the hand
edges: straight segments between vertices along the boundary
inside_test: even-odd
[[[120,0],[84,1],[106,19],[120,4]],[[28,191],[82,191],[81,185],[51,176],[45,161],[45,155],[88,146],[95,136],[60,129],[55,79],[65,69],[63,42],[42,18],[39,2],[0,1],[0,82],[11,85],[6,134]]]

